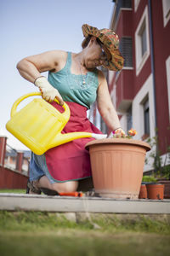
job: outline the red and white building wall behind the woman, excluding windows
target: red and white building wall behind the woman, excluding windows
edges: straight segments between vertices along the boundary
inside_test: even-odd
[[[150,59],[150,16],[149,0],[133,0],[133,8],[122,9],[118,20],[111,24],[119,38],[131,36],[133,38],[133,69],[123,68],[120,74],[111,74],[110,92],[116,88],[116,110],[122,112],[122,127],[126,131],[126,111],[128,103],[132,102],[133,128],[138,131],[135,138],[144,136],[144,98],[148,96],[150,106],[150,137],[158,129],[159,149],[161,154],[167,152],[170,145],[170,18],[165,24],[163,13],[163,0],[151,0],[152,30],[155,61],[155,85],[151,70]],[[139,3],[134,8],[135,3]],[[112,18],[111,20],[114,20]],[[139,60],[139,30],[145,21],[147,52]],[[155,86],[155,87],[154,87]],[[154,91],[155,89],[155,91]],[[114,89],[115,90],[115,89]],[[131,91],[131,94],[130,92]],[[125,93],[126,92],[126,93]],[[155,112],[156,93],[156,112]],[[131,100],[131,102],[130,102]],[[155,116],[156,113],[156,116]]]

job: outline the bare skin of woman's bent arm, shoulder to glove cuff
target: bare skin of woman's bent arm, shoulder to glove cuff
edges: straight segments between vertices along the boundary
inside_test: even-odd
[[[40,77],[42,72],[49,70],[59,71],[59,69],[65,66],[66,58],[67,53],[65,51],[47,51],[24,58],[18,62],[17,69],[24,79],[34,83],[35,79]]]

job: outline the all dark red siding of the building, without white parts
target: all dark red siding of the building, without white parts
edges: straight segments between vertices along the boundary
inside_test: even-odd
[[[150,56],[148,57],[147,61],[145,61],[144,67],[142,67],[137,77],[135,70],[135,31],[139,26],[139,21],[144,13],[146,5],[148,5],[148,0],[141,0],[139,2],[137,11],[134,12],[133,0],[133,10],[122,10],[116,26],[116,33],[118,34],[119,38],[125,36],[133,37],[133,71],[132,73],[131,71],[127,73],[126,70],[122,70],[120,77],[116,81],[117,107],[123,100],[136,96],[151,73]],[[167,145],[170,145],[170,130],[167,130],[167,127],[170,127],[170,124],[166,70],[166,60],[170,55],[170,20],[168,21],[167,26],[164,27],[161,0],[151,0],[151,8],[156,80],[156,118],[159,136],[159,147],[161,154],[165,154],[167,152]],[[112,90],[114,83],[115,77],[112,81],[112,84],[110,84],[110,90]],[[133,85],[131,86],[131,84]]]

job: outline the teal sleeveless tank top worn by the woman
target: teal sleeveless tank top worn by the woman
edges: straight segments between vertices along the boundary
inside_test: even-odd
[[[85,83],[83,83],[85,81]],[[98,69],[86,75],[71,73],[71,52],[68,52],[65,67],[57,73],[48,73],[48,82],[59,90],[65,102],[77,102],[86,108],[95,102],[98,90]]]

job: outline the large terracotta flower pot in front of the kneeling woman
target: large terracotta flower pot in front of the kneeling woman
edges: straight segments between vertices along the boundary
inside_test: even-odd
[[[139,197],[144,158],[150,145],[126,138],[106,138],[86,145],[89,149],[94,189],[111,198]]]

